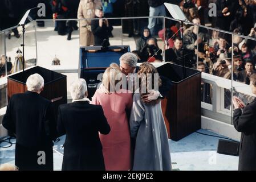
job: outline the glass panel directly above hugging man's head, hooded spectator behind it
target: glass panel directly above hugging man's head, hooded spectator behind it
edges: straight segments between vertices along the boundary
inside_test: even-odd
[[[163,59],[164,41],[159,32],[163,30],[164,18],[157,18],[157,21],[159,24],[149,29],[148,18],[122,19],[123,45],[129,45],[139,56],[139,63],[161,62]]]

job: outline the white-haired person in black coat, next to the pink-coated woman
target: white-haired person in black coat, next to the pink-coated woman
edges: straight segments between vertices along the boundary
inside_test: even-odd
[[[101,106],[91,105],[86,81],[75,80],[70,86],[72,103],[59,106],[57,130],[66,134],[62,170],[105,170],[99,132],[110,131]]]

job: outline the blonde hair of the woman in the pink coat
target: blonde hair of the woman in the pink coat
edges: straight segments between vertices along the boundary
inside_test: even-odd
[[[117,78],[118,74],[123,73],[121,72],[120,68],[115,64],[111,64],[111,66],[105,70],[102,77],[102,84],[106,89],[107,93],[115,92],[115,86],[117,82],[121,81],[121,78]]]

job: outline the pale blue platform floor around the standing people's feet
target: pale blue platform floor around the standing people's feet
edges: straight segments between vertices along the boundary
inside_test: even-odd
[[[207,130],[201,129],[198,132],[221,137]],[[54,170],[56,171],[62,168],[62,146],[65,136],[59,139],[59,142],[54,144]],[[218,154],[218,139],[216,137],[193,133],[178,142],[169,140],[173,170],[236,171],[238,169],[238,157]],[[15,143],[15,139],[11,139],[11,142]],[[2,148],[8,146],[10,146],[8,143],[0,144],[0,164],[14,164],[15,144],[9,148]]]

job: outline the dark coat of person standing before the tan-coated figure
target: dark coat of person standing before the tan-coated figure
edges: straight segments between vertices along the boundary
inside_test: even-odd
[[[97,17],[95,17],[97,18]],[[91,22],[92,34],[94,34],[94,46],[103,46],[103,40],[107,42],[105,46],[109,46],[108,38],[111,35],[113,27],[109,24],[109,27],[103,22],[102,27],[99,26],[99,19],[94,19]]]

